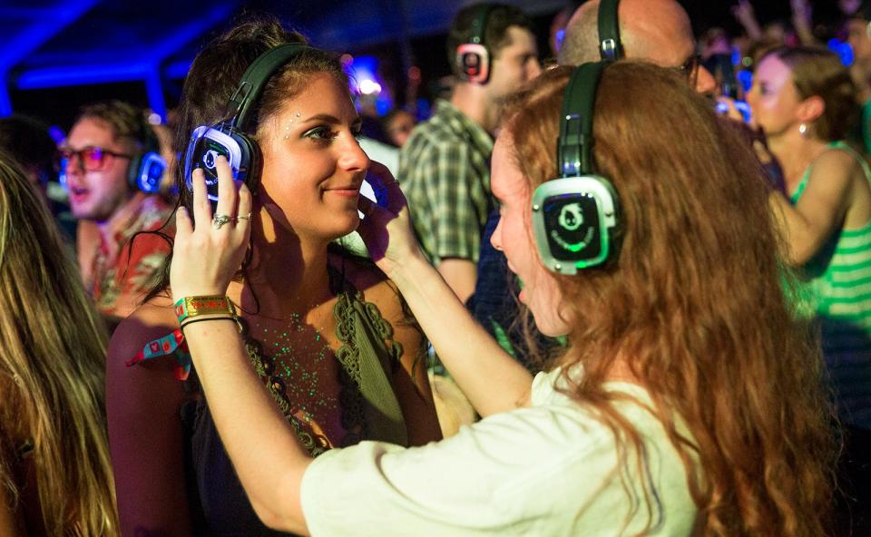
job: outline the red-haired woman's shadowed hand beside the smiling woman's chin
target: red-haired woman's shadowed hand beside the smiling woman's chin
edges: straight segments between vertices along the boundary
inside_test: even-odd
[[[399,181],[380,162],[372,161],[366,180],[375,190],[375,203],[360,196],[359,210],[366,215],[357,229],[369,250],[369,256],[388,277],[397,267],[423,254],[408,216],[406,196]]]

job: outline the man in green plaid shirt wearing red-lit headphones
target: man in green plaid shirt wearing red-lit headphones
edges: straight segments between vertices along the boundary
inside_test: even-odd
[[[470,76],[457,50],[475,35],[489,55],[484,76]],[[494,206],[492,132],[504,98],[541,73],[541,65],[532,21],[509,5],[465,7],[455,16],[447,45],[459,82],[450,102],[436,103],[433,116],[411,133],[398,177],[426,255],[465,302],[475,290],[481,232]]]

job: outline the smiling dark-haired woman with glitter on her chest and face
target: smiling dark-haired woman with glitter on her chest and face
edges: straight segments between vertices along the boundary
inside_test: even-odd
[[[197,127],[228,119],[255,59],[300,43],[277,22],[256,20],[208,45],[185,81],[179,150],[187,151]],[[262,166],[250,171],[259,179],[251,214],[240,215],[252,223],[249,255],[222,304],[240,313],[260,379],[255,389],[269,394],[308,454],[365,439],[426,444],[440,432],[422,335],[371,262],[331,246],[357,228],[369,166],[347,75],[337,56],[299,50],[269,75],[253,121],[239,126],[259,146]],[[186,210],[189,179],[179,188]],[[251,510],[196,371],[188,371],[168,277],[110,345],[107,405],[122,531],[272,534]],[[161,356],[152,359],[152,348]]]

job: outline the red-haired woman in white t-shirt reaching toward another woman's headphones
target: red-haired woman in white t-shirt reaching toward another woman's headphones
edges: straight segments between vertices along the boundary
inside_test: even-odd
[[[572,73],[543,73],[514,97],[493,155],[502,206],[494,247],[524,281],[520,299],[539,329],[568,341],[534,379],[426,263],[396,183],[382,176],[386,208],[360,200],[369,250],[480,422],[422,447],[367,442],[312,461],[253,389],[232,317],[182,325],[221,437],[269,526],[316,535],[824,532],[829,407],[807,326],[782,291],[758,164],[675,73],[608,65],[592,108],[592,168],[621,208],[612,258],[555,274],[536,253],[533,190],[558,175],[553,142]],[[220,182],[218,210],[248,210],[250,192],[237,200],[226,166]],[[201,177],[195,187],[202,199]],[[244,220],[210,229],[205,205],[192,216],[196,229],[184,213],[177,220],[176,299],[220,295],[250,232]],[[736,269],[747,266],[753,278]]]

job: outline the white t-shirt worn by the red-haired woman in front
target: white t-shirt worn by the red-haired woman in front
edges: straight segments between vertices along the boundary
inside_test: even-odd
[[[441,442],[363,442],[320,455],[302,480],[309,532],[632,535],[650,521],[645,534],[690,534],[696,507],[661,422],[637,403],[615,403],[644,444],[643,470],[633,455],[621,470],[611,429],[554,389],[559,375],[535,376],[530,406],[488,416]],[[641,386],[615,382],[608,389],[650,404]]]

